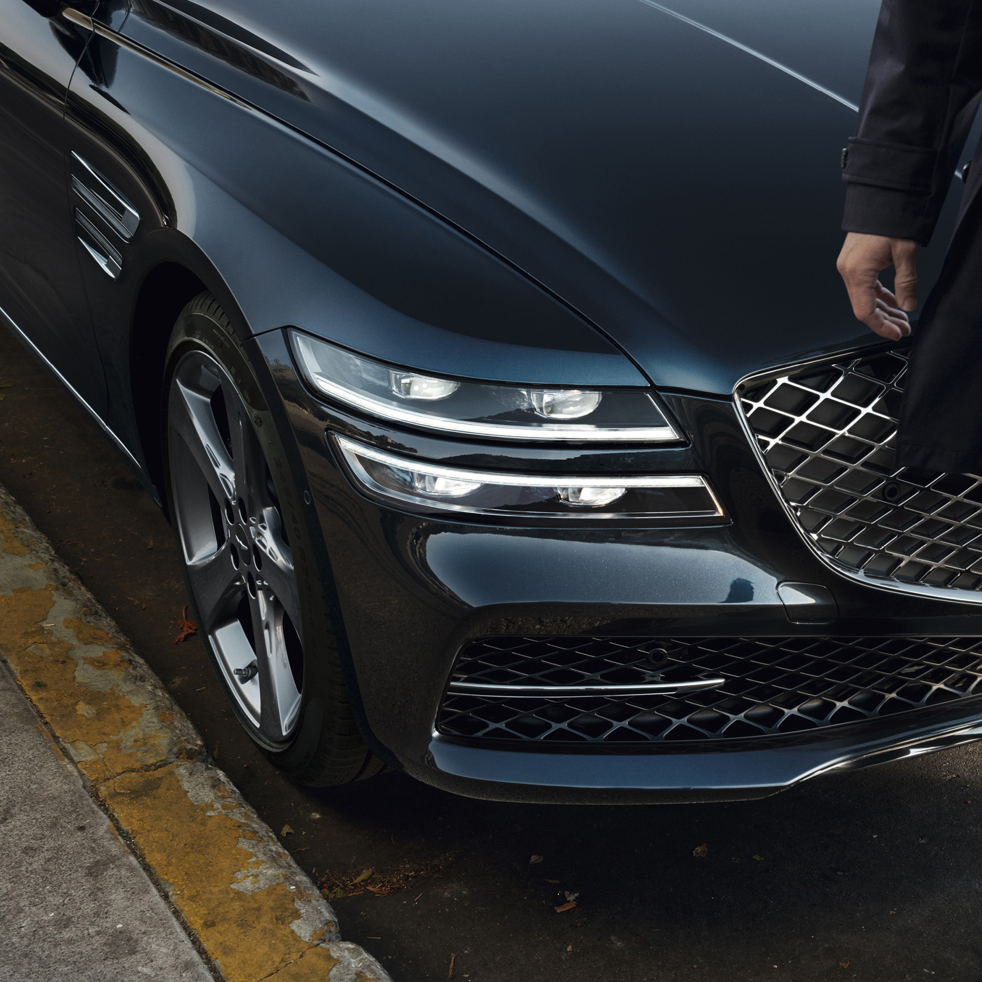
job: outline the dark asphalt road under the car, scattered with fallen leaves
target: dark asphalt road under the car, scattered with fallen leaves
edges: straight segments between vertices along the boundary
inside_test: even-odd
[[[0,386],[0,480],[259,814],[294,830],[300,865],[403,874],[406,889],[333,900],[397,982],[446,979],[452,956],[473,982],[982,979],[982,747],[715,805],[500,804],[400,774],[298,788],[240,733],[200,641],[174,643],[187,601],[169,526],[3,331]]]

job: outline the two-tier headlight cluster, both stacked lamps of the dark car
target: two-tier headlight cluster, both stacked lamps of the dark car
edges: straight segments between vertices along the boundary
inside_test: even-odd
[[[315,391],[387,422],[498,440],[681,439],[644,390],[533,388],[441,378],[355,355],[299,331],[291,331],[290,339],[300,371]],[[347,437],[333,439],[362,492],[409,511],[573,519],[719,520],[724,515],[698,474],[557,476],[473,470],[392,454]]]

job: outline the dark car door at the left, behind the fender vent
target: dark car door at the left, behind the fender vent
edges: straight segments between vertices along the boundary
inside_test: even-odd
[[[64,111],[90,29],[0,0],[0,308],[97,417],[106,387],[69,204]]]

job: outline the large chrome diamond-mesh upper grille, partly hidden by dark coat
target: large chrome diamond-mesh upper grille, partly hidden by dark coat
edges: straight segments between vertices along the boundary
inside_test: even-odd
[[[982,477],[894,460],[908,351],[751,376],[736,407],[805,539],[838,572],[982,603]]]

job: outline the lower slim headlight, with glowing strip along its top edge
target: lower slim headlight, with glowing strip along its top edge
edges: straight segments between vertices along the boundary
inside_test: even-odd
[[[723,518],[715,495],[697,474],[540,477],[465,470],[334,439],[362,491],[410,511],[502,518]]]

